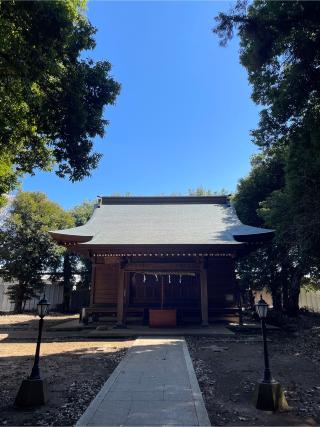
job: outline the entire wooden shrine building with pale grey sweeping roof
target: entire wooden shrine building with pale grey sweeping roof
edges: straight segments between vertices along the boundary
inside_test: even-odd
[[[242,224],[227,196],[100,197],[85,225],[51,235],[92,261],[85,321],[163,327],[237,316],[235,261],[273,231]]]

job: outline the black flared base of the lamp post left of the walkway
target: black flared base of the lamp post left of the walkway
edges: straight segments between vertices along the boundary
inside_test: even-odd
[[[45,405],[47,401],[47,381],[28,378],[22,381],[14,405],[19,407],[39,406]]]

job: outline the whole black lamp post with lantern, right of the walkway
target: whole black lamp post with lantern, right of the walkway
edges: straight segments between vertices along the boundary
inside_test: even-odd
[[[256,386],[254,404],[257,409],[262,409],[264,411],[277,411],[279,409],[286,410],[288,409],[288,404],[281,385],[272,378],[270,371],[266,328],[268,304],[264,301],[262,295],[260,296],[260,300],[255,304],[255,308],[261,320],[264,352],[264,375],[263,380]]]

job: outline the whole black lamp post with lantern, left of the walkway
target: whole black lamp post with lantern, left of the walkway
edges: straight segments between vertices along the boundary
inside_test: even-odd
[[[45,296],[37,304],[37,311],[40,317],[38,339],[36,346],[36,353],[34,356],[34,364],[30,377],[22,381],[19,392],[15,399],[16,406],[37,406],[44,405],[47,401],[47,383],[46,380],[40,377],[39,359],[40,359],[40,345],[43,329],[43,319],[48,314],[50,304]]]

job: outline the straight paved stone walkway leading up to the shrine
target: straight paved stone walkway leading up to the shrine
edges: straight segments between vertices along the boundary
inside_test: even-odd
[[[77,426],[210,426],[184,338],[138,338]]]

